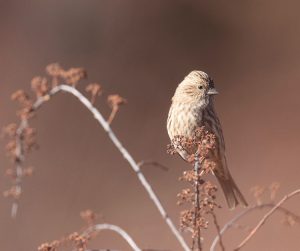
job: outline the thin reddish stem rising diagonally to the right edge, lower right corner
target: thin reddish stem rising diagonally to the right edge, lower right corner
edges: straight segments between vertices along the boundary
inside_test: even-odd
[[[246,243],[255,235],[259,228],[266,222],[266,220],[288,199],[291,197],[300,194],[300,189],[295,190],[286,196],[284,196],[269,212],[267,212],[263,218],[258,222],[258,224],[252,229],[250,234],[234,249],[235,251],[240,250]]]

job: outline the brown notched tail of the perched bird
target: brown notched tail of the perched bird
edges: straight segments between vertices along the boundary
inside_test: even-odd
[[[248,206],[247,201],[245,200],[244,196],[240,192],[230,174],[228,175],[228,177],[216,174],[216,177],[221,185],[228,207],[230,209],[234,209],[238,204],[241,204],[244,207]]]

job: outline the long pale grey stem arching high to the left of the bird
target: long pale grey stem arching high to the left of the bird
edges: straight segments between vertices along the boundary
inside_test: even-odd
[[[113,144],[118,148],[118,150],[121,152],[123,157],[127,160],[129,165],[133,169],[133,171],[136,173],[139,181],[141,182],[143,187],[146,189],[150,199],[154,202],[154,204],[157,207],[158,211],[160,212],[161,216],[163,217],[163,219],[165,220],[165,222],[167,223],[167,225],[171,229],[171,231],[174,234],[174,236],[176,237],[176,239],[181,244],[182,248],[185,251],[189,251],[190,248],[188,247],[185,240],[183,239],[183,237],[181,236],[181,234],[179,233],[179,231],[175,227],[174,223],[172,222],[172,220],[168,216],[167,212],[163,208],[161,202],[159,201],[157,195],[153,191],[153,189],[152,189],[151,185],[149,184],[149,182],[146,180],[146,178],[145,178],[144,174],[142,173],[142,171],[141,171],[140,167],[138,166],[138,164],[135,162],[135,160],[132,158],[132,156],[129,154],[129,152],[122,146],[121,142],[118,140],[118,138],[116,137],[116,135],[112,131],[109,123],[104,119],[102,114],[98,111],[97,108],[95,108],[93,106],[93,104],[84,95],[82,95],[81,92],[79,92],[73,86],[69,86],[69,85],[55,86],[48,93],[48,98],[41,97],[41,98],[37,99],[37,101],[34,103],[34,105],[32,107],[32,110],[33,111],[37,110],[44,102],[49,100],[49,97],[55,95],[56,93],[58,93],[60,91],[70,93],[73,96],[77,97],[78,100],[94,115],[94,118],[103,127],[103,129],[108,134],[108,136],[111,139],[111,141],[113,142]],[[21,128],[20,130],[21,131],[24,130],[24,128],[26,128],[26,125],[27,125],[27,120],[23,120],[21,122],[21,125],[20,125],[20,128]],[[16,211],[15,211],[15,213],[16,213]]]

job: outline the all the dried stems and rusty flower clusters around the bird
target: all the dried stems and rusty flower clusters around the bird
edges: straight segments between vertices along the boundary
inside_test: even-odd
[[[101,85],[98,83],[91,83],[86,86],[85,91],[87,92],[87,95],[90,96],[90,99],[87,99],[84,94],[76,89],[80,80],[87,76],[87,73],[83,68],[64,70],[59,64],[55,63],[48,65],[46,67],[46,72],[48,77],[37,76],[32,79],[31,87],[35,98],[30,98],[30,95],[22,90],[17,90],[12,94],[12,100],[17,101],[20,104],[20,109],[17,111],[20,123],[9,124],[3,129],[5,135],[7,135],[7,138],[9,139],[6,151],[13,162],[13,165],[6,171],[6,175],[11,179],[11,187],[7,191],[4,191],[4,196],[10,197],[13,200],[11,210],[12,217],[16,217],[17,214],[19,198],[23,192],[23,178],[30,176],[33,173],[33,168],[26,164],[26,155],[37,147],[36,129],[30,127],[29,122],[36,116],[42,105],[51,101],[52,96],[59,92],[67,92],[77,97],[87,108],[87,111],[92,113],[96,121],[105,130],[112,143],[118,148],[124,159],[135,172],[141,185],[146,189],[149,198],[157,207],[165,223],[169,226],[172,234],[180,243],[183,250],[208,250],[207,247],[210,246],[210,250],[213,251],[216,250],[218,243],[221,250],[226,250],[225,242],[222,240],[224,233],[233,227],[245,229],[245,226],[239,224],[240,220],[256,210],[267,209],[267,212],[260,220],[258,220],[255,227],[247,227],[248,230],[250,229],[249,233],[244,240],[237,244],[235,250],[242,249],[275,211],[283,213],[285,222],[289,225],[300,223],[300,217],[298,215],[283,207],[285,201],[300,194],[300,189],[291,192],[276,203],[275,195],[279,185],[274,183],[269,189],[258,186],[255,187],[252,192],[256,198],[257,204],[249,206],[221,227],[216,216],[216,209],[221,209],[221,205],[218,204],[216,198],[218,188],[216,185],[206,180],[206,175],[211,173],[215,166],[215,163],[207,158],[209,151],[215,147],[215,137],[202,127],[195,132],[193,138],[186,139],[177,136],[168,146],[168,152],[170,154],[175,154],[177,148],[190,148],[190,145],[195,145],[197,149],[197,151],[189,158],[189,162],[191,163],[190,170],[186,170],[180,178],[181,181],[188,184],[188,187],[178,194],[178,204],[185,204],[187,206],[187,209],[183,210],[180,214],[181,230],[191,233],[191,245],[187,244],[176,225],[169,218],[158,196],[154,193],[150,183],[147,181],[141,170],[141,167],[145,165],[154,165],[164,170],[167,170],[167,167],[155,161],[142,161],[137,163],[111,130],[110,124],[119,111],[120,106],[127,103],[126,99],[118,94],[109,95],[107,97],[108,105],[111,107],[111,114],[106,120],[95,107],[97,97],[102,94]],[[269,190],[270,202],[265,203],[262,200],[262,195],[265,194],[267,190]],[[227,210],[227,208],[225,207],[223,210]],[[81,231],[71,233],[70,235],[55,241],[41,244],[38,247],[38,250],[56,251],[60,250],[62,247],[69,250],[88,250],[89,241],[92,238],[95,238],[96,234],[101,230],[114,231],[121,235],[133,250],[142,250],[137,246],[136,242],[129,234],[120,227],[106,223],[96,224],[97,215],[91,210],[81,212],[80,215],[86,222],[85,227]],[[211,245],[205,242],[203,236],[204,230],[209,226],[209,222],[212,222],[215,225],[218,233]],[[237,240],[237,243],[238,242],[239,241]]]

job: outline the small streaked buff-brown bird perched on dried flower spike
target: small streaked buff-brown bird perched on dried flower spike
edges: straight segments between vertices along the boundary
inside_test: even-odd
[[[213,80],[203,71],[192,71],[178,85],[172,98],[167,130],[172,141],[176,136],[192,138],[197,128],[205,130],[216,137],[213,174],[218,179],[224,192],[228,207],[234,209],[239,203],[247,206],[247,202],[235,184],[227,168],[225,142],[222,128],[213,105],[213,97],[218,94]],[[184,149],[176,149],[180,156],[189,161],[191,153]]]

